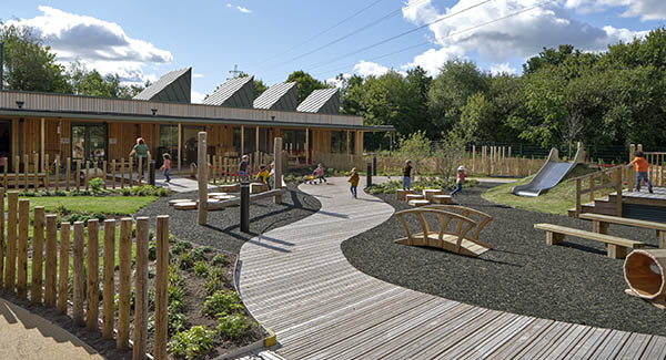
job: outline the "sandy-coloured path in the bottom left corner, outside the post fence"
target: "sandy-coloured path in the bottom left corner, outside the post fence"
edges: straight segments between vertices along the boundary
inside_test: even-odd
[[[0,359],[103,359],[70,332],[0,299]]]

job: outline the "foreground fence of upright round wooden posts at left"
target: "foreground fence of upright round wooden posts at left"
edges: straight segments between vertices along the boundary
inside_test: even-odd
[[[28,299],[28,264],[31,261],[30,300],[44,307],[57,307],[59,315],[67,315],[71,300],[72,320],[98,331],[99,326],[99,282],[100,249],[99,235],[103,237],[102,289],[102,337],[113,338],[114,321],[118,331],[117,348],[127,349],[130,344],[130,296],[134,282],[134,329],[133,358],[145,358],[148,336],[148,243],[149,218],[137,218],[135,257],[132,259],[132,218],[120,220],[118,291],[115,278],[115,230],[117,222],[103,222],[99,232],[99,220],[91,219],[84,225],[62,223],[58,229],[57,215],[47,215],[44,207],[33,209],[33,236],[29,244],[30,202],[20,199],[18,192],[8,193],[8,213],[0,212],[0,241],[6,243],[6,251],[0,246],[0,284],[7,292],[16,292]],[[4,202],[4,189],[0,188],[0,202]],[[18,225],[18,227],[17,227]],[[88,232],[85,232],[85,227]],[[7,229],[7,238],[4,238]],[[17,232],[18,230],[18,232]],[[88,233],[88,234],[85,234]],[[71,234],[73,241],[70,246]],[[154,358],[167,358],[167,307],[169,276],[169,216],[157,218],[157,277],[155,277],[155,330]],[[59,236],[60,235],[60,236]],[[59,248],[59,251],[58,251]],[[46,250],[46,251],[44,251]],[[72,297],[69,297],[70,250],[72,266]],[[29,258],[28,254],[32,254]],[[135,276],[132,280],[132,260],[135,261]],[[4,265],[4,266],[3,266]],[[43,272],[42,272],[43,268]],[[43,274],[43,275],[42,275]],[[43,277],[42,277],[43,276]],[[43,287],[42,287],[43,284]],[[42,297],[43,290],[43,297]],[[118,294],[118,317],[114,316],[114,296]]]

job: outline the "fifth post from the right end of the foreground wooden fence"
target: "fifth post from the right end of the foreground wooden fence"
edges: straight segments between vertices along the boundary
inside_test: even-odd
[[[100,222],[98,219],[88,220],[88,246],[85,247],[88,261],[87,271],[88,286],[85,291],[85,327],[88,330],[97,331],[99,308],[100,308],[100,241],[99,241]]]

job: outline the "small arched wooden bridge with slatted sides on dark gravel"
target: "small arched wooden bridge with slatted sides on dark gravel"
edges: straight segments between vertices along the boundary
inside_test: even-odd
[[[397,212],[395,215],[407,235],[395,240],[397,244],[436,247],[472,257],[491,249],[488,244],[478,239],[478,235],[493,217],[480,210],[457,205],[428,205]],[[436,217],[437,232],[431,230],[426,215]],[[412,234],[407,216],[418,219],[421,233]]]

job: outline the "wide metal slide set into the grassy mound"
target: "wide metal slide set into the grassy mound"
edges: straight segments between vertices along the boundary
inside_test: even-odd
[[[525,184],[518,185],[513,188],[512,193],[519,196],[539,196],[542,193],[547,192],[549,188],[555,187],[562,179],[568,174],[577,164],[585,162],[585,152],[583,151],[583,143],[578,143],[578,150],[576,151],[576,157],[573,162],[561,162],[557,153],[557,148],[551,150],[548,160],[536,173],[534,178]]]

